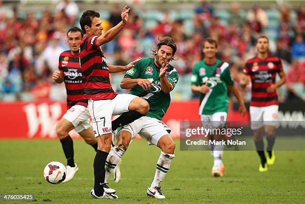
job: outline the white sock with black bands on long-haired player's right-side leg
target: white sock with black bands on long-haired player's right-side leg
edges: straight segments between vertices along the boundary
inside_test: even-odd
[[[156,170],[151,187],[160,185],[160,182],[163,181],[166,173],[169,170],[171,161],[174,157],[174,154],[166,154],[161,151],[160,157],[156,165]]]

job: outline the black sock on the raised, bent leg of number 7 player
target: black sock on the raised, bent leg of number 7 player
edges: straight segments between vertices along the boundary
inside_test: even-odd
[[[119,127],[123,125],[127,125],[136,119],[139,119],[140,117],[145,116],[144,114],[136,111],[136,110],[131,110],[128,112],[123,112],[120,117],[112,121],[112,130],[115,131]]]

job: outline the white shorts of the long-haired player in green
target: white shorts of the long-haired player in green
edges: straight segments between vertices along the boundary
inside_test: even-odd
[[[170,129],[167,125],[156,118],[143,116],[128,125],[124,125],[118,132],[125,130],[132,134],[132,140],[139,134],[149,145],[157,145],[163,135],[169,135]]]

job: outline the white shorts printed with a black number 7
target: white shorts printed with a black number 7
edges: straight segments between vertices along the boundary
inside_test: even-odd
[[[118,94],[113,100],[88,100],[89,112],[92,119],[94,136],[112,132],[112,115],[119,115],[128,111],[128,106],[137,96]]]

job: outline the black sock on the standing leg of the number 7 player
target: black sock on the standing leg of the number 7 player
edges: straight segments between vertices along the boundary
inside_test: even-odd
[[[104,194],[104,188],[101,184],[105,181],[105,163],[109,153],[101,150],[96,151],[96,155],[93,162],[94,169],[94,193],[100,197]]]

